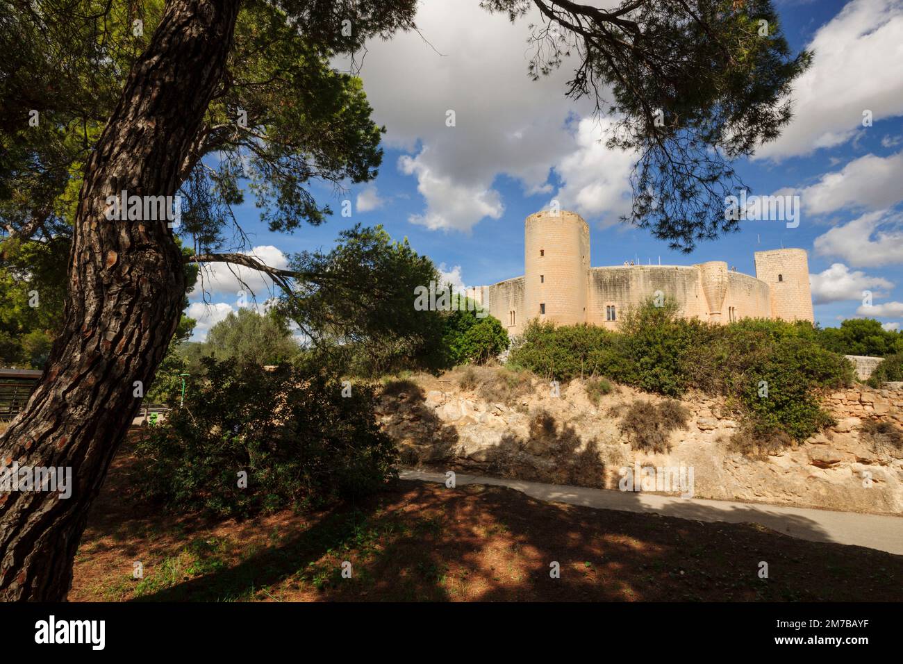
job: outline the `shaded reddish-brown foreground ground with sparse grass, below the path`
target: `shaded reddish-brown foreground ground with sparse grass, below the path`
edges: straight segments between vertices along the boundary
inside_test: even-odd
[[[903,556],[501,487],[398,482],[312,514],[167,517],[123,500],[133,461],[118,455],[94,505],[70,601],[903,600]]]

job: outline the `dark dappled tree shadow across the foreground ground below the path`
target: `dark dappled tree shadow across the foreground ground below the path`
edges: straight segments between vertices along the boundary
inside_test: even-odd
[[[695,515],[713,516],[704,508]],[[806,520],[794,528],[815,528]],[[340,575],[346,560],[349,579]],[[318,590],[308,582],[305,593],[294,581],[311,564],[325,571]],[[337,510],[237,566],[140,599],[216,600],[268,587],[288,601],[898,601],[900,580],[903,556],[750,523],[401,481],[363,509]]]

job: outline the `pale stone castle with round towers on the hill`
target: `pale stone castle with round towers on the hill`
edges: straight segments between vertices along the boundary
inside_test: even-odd
[[[814,321],[804,249],[755,253],[756,276],[723,261],[693,266],[590,267],[590,228],[579,214],[541,211],[525,222],[524,276],[469,288],[507,328],[523,332],[534,318],[610,329],[647,298],[674,298],[684,317],[712,323],[740,318]]]

